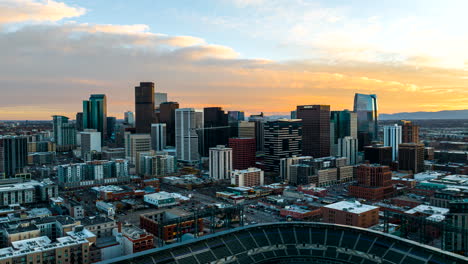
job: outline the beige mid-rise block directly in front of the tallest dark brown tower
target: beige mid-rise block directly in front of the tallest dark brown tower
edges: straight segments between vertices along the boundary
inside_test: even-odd
[[[138,154],[151,150],[150,134],[131,134],[125,132],[125,158],[138,168]]]

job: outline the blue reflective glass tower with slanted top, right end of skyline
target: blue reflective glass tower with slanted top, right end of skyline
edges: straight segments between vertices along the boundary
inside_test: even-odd
[[[377,95],[355,94],[354,112],[358,120],[359,151],[378,139],[378,107]]]

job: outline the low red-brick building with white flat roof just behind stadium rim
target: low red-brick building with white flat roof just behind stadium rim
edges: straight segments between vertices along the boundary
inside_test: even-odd
[[[371,227],[379,223],[379,207],[359,202],[341,201],[322,207],[323,221],[326,223]]]

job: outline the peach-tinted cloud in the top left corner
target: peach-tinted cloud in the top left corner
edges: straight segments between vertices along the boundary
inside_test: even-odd
[[[2,0],[0,1],[0,24],[59,21],[81,16],[85,12],[84,8],[71,7],[52,0]]]

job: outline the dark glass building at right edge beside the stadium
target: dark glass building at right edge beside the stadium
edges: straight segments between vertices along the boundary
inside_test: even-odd
[[[452,227],[457,228],[444,232],[444,245],[443,249],[462,253],[468,248],[468,236],[466,235],[466,227],[468,226],[468,199],[456,199],[449,202],[449,213],[446,215],[445,222]],[[460,232],[465,230],[465,234]]]

